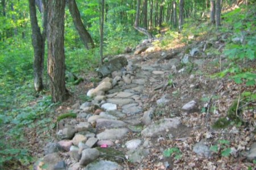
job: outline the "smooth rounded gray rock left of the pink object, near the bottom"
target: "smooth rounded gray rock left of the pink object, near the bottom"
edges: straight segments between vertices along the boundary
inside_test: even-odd
[[[82,151],[82,156],[79,161],[80,165],[88,165],[92,161],[96,160],[99,157],[99,151],[95,148],[85,149]]]

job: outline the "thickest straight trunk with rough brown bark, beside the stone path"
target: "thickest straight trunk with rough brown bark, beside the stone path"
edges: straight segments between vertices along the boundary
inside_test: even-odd
[[[65,88],[64,16],[65,1],[49,0],[47,15],[47,69],[53,102],[63,102],[69,97]]]

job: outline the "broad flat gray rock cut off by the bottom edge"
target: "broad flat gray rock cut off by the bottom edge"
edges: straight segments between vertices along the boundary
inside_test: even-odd
[[[96,163],[90,163],[83,170],[123,170],[123,166],[112,161],[100,160]]]

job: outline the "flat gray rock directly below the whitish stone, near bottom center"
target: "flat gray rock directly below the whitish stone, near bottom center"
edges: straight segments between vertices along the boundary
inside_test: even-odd
[[[128,156],[128,159],[132,163],[141,163],[141,161],[150,154],[149,149],[136,149],[136,150],[129,150],[126,153],[126,156]]]

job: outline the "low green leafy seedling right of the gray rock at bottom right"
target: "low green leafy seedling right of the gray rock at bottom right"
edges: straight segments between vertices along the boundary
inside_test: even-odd
[[[221,156],[229,157],[231,154],[230,142],[228,140],[218,140],[218,144],[212,145],[210,150],[216,153],[220,153]]]

